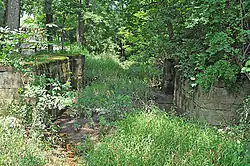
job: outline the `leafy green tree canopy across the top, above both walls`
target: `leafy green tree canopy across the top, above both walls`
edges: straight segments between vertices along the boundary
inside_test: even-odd
[[[6,5],[0,1],[0,15]],[[21,0],[21,15],[30,16],[22,26],[45,28],[49,43],[64,49],[65,42],[77,42],[143,63],[175,59],[205,88],[232,85],[241,72],[250,78],[249,9],[246,0]]]

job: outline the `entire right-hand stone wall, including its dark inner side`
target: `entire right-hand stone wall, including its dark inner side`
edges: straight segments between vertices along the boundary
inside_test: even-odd
[[[242,82],[236,91],[229,92],[219,85],[208,91],[201,87],[193,89],[178,71],[175,71],[173,79],[173,104],[177,113],[213,125],[223,125],[237,118],[237,110],[250,94],[249,80]]]

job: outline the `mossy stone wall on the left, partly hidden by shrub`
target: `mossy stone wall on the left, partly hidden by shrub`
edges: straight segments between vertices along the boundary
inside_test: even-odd
[[[85,57],[82,55],[55,58],[46,63],[38,63],[33,68],[33,73],[58,78],[63,83],[70,81],[72,88],[79,90],[84,87],[84,63]],[[0,113],[10,103],[18,101],[18,88],[23,87],[26,82],[27,77],[22,73],[11,67],[0,66]]]

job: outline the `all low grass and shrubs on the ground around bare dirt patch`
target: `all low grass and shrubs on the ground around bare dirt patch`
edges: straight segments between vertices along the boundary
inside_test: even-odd
[[[87,55],[86,87],[76,105],[68,83],[35,79],[21,90],[24,103],[0,118],[0,165],[48,163],[45,149],[55,143],[56,130],[47,111],[66,106],[86,118],[98,114],[100,130],[114,129],[100,131],[98,144],[87,139],[77,147],[86,165],[249,165],[248,131],[190,122],[154,106],[150,86],[159,73],[154,66]]]

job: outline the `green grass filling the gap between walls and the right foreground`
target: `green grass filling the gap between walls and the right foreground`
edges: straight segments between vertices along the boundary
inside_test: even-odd
[[[104,126],[116,121],[114,134],[84,145],[90,149],[81,154],[87,165],[248,165],[246,133],[166,115],[148,102],[153,97],[148,80],[159,76],[151,67],[87,57],[78,111],[88,117],[98,113]]]

